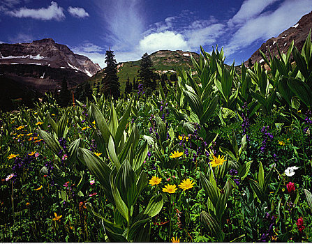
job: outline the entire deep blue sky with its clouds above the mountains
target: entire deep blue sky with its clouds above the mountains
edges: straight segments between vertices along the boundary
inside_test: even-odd
[[[160,49],[224,47],[246,61],[267,39],[312,10],[312,0],[1,0],[0,43],[53,38],[104,67]]]

